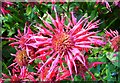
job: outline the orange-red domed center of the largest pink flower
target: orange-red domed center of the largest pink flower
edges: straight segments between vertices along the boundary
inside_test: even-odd
[[[73,46],[73,39],[67,33],[58,33],[53,36],[52,45],[55,51],[66,52]]]

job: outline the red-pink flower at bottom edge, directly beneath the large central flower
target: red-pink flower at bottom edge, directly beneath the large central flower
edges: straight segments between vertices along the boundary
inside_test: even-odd
[[[42,63],[41,63],[42,64]],[[38,70],[41,68],[42,65],[38,64]],[[45,66],[41,73],[38,74],[38,80],[41,81],[59,81],[59,80],[70,80],[70,72],[65,67],[63,69],[62,66],[57,66],[50,74],[49,78],[46,78],[48,76],[48,71],[50,70],[50,64]]]

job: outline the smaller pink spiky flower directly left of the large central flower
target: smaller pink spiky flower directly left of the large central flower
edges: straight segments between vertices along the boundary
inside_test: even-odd
[[[25,50],[28,58],[33,59],[36,57],[35,55],[35,47],[28,46],[29,43],[35,42],[33,35],[36,35],[30,29],[30,25],[27,27],[27,23],[25,23],[24,33],[21,33],[18,29],[18,35],[15,38],[8,38],[12,43],[9,45],[14,47],[17,46],[18,50]],[[13,42],[14,41],[14,42]]]

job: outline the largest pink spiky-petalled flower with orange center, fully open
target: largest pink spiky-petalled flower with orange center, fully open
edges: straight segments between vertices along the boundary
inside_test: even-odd
[[[98,28],[99,20],[92,20],[88,22],[89,17],[85,18],[83,16],[77,22],[73,12],[71,12],[71,19],[66,17],[69,23],[65,25],[65,17],[59,17],[56,9],[54,9],[54,11],[56,14],[55,19],[48,14],[52,20],[54,28],[52,25],[40,18],[46,28],[41,27],[41,25],[36,27],[40,30],[39,33],[43,35],[43,40],[41,42],[41,39],[36,37],[36,42],[29,45],[39,48],[35,53],[39,54],[39,57],[49,57],[40,67],[37,73],[42,72],[44,67],[51,64],[50,69],[47,71],[47,75],[45,77],[45,79],[49,79],[51,73],[58,65],[62,65],[63,68],[65,67],[63,62],[60,62],[64,60],[73,80],[72,66],[74,66],[76,73],[79,71],[77,70],[75,59],[80,61],[81,64],[87,68],[85,60],[82,58],[84,57],[83,54],[86,51],[89,51],[89,49],[94,48],[91,45],[101,43],[101,37],[96,36],[97,32],[92,31],[93,29]]]

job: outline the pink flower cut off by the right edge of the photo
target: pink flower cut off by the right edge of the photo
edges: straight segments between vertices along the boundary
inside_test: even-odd
[[[114,49],[114,51],[120,51],[120,35],[117,30],[106,31],[106,40],[111,43],[111,48]]]

